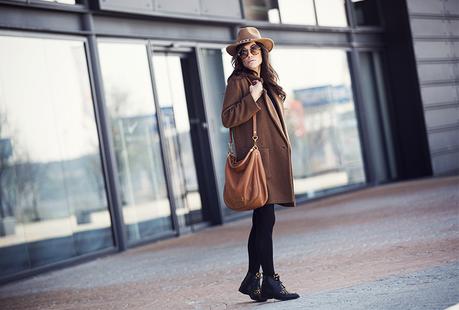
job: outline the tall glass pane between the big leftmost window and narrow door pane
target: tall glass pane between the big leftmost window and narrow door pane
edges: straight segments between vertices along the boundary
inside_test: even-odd
[[[148,55],[144,44],[98,48],[124,222],[134,242],[173,229]]]

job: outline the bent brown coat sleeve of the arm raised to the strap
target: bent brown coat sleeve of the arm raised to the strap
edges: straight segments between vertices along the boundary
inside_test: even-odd
[[[240,81],[229,80],[222,107],[222,123],[226,128],[236,127],[250,120],[261,110],[250,92],[242,94]],[[261,98],[261,97],[260,97]]]

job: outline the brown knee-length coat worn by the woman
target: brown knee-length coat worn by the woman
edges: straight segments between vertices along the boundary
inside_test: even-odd
[[[246,74],[229,78],[223,99],[223,126],[234,127],[234,147],[237,160],[240,160],[253,145],[252,116],[256,113],[257,145],[268,183],[267,204],[295,207],[291,146],[284,122],[284,103],[280,97],[272,94],[273,103],[265,88],[255,102],[249,90],[251,80],[252,77]]]

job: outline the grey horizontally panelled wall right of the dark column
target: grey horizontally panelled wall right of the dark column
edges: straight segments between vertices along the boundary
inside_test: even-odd
[[[408,1],[418,80],[435,174],[459,162],[459,1]]]

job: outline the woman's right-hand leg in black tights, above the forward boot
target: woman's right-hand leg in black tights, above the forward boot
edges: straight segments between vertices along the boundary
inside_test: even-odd
[[[263,274],[274,275],[273,262],[273,228],[276,222],[274,204],[268,204],[254,211],[255,217],[255,248],[257,259],[263,269]]]

